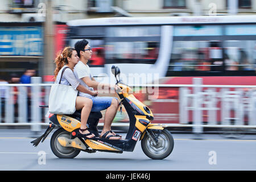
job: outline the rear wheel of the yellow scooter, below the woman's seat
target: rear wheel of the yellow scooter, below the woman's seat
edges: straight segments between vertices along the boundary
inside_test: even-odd
[[[77,155],[79,155],[80,150],[77,150],[73,147],[63,147],[57,140],[59,137],[66,137],[68,139],[72,138],[71,133],[64,130],[63,128],[60,128],[55,131],[55,133],[52,134],[51,137],[51,150],[54,155],[56,155],[58,158],[66,158],[66,159],[72,159],[75,158]]]

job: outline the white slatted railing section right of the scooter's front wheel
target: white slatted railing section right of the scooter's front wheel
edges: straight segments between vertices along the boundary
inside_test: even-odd
[[[255,88],[256,86],[249,85],[201,85],[201,78],[194,78],[193,90],[188,87],[180,88],[180,123],[188,122],[188,111],[192,110],[193,121],[198,126],[203,124],[203,111],[207,111],[208,121],[204,127],[255,128]],[[217,117],[221,119],[218,120]],[[201,133],[200,130],[198,133]]]

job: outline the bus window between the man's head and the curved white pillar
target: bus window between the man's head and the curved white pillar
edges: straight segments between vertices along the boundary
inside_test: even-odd
[[[154,64],[158,58],[160,26],[106,28],[106,62]]]

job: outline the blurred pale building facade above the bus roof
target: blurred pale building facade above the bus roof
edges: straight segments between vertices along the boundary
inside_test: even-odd
[[[2,0],[0,22],[43,21],[47,1]],[[106,16],[245,15],[256,14],[256,0],[55,0],[52,10],[56,22]]]

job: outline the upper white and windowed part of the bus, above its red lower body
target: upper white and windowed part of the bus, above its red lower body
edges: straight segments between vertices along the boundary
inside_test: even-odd
[[[255,15],[116,17],[67,24],[70,46],[89,40],[94,75],[110,74],[114,64],[126,75],[158,73],[159,78],[255,76]]]

